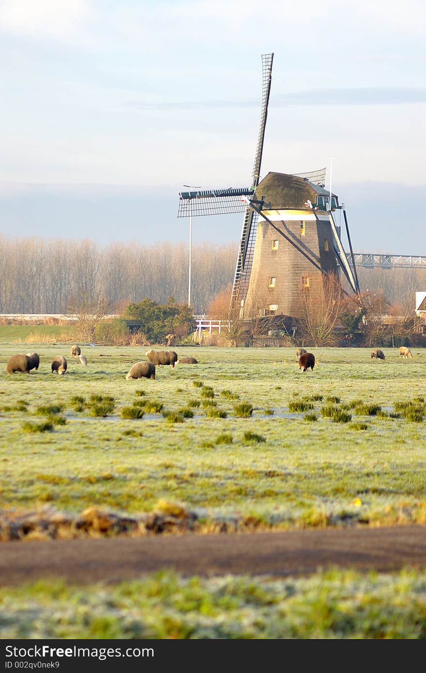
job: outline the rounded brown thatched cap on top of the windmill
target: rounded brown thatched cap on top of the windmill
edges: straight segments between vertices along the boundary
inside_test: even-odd
[[[314,184],[306,178],[298,178],[287,173],[269,172],[257,185],[255,199],[265,197],[263,208],[280,210],[286,208],[307,209],[306,201],[313,205],[318,194],[329,196],[327,189]],[[332,193],[336,197],[336,194]]]

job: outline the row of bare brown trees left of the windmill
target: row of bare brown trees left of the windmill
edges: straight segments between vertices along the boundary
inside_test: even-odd
[[[232,281],[237,244],[192,246],[191,308],[203,314]],[[118,312],[149,297],[184,304],[188,297],[188,246],[147,246],[65,238],[0,237],[0,313],[58,314],[85,301],[105,299]]]

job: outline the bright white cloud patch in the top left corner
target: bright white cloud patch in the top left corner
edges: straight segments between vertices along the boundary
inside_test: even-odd
[[[0,27],[28,36],[65,38],[88,12],[87,0],[4,0]]]

